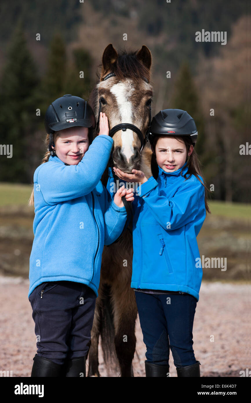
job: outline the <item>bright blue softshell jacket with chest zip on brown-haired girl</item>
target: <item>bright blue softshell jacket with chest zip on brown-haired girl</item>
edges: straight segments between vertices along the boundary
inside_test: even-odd
[[[194,175],[185,179],[186,172],[187,162],[174,172],[159,167],[157,180],[135,187],[131,288],[181,291],[199,301],[196,237],[206,216],[205,189]]]

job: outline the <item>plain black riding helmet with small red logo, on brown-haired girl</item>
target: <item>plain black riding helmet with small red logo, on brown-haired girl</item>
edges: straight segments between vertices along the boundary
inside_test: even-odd
[[[157,113],[151,121],[148,136],[150,144],[153,144],[156,136],[191,136],[194,147],[198,132],[195,121],[186,110],[164,109]]]

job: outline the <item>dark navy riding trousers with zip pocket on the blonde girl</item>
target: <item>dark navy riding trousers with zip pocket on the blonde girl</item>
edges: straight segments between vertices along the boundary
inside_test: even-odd
[[[41,291],[42,293],[41,298]],[[85,284],[53,281],[29,295],[37,337],[37,355],[63,364],[89,350],[96,295]]]

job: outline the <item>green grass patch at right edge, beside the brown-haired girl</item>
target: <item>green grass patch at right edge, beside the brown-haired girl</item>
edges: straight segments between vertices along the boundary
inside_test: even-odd
[[[219,202],[217,200],[209,200],[209,208],[212,215],[224,216],[227,218],[251,218],[251,204],[248,203],[230,203]]]

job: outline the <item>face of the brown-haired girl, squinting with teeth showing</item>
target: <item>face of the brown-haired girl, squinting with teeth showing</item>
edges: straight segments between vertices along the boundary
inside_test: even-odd
[[[153,147],[151,146],[152,151]],[[188,156],[193,152],[190,145]],[[187,158],[187,147],[183,140],[174,137],[160,137],[155,147],[156,161],[158,166],[166,172],[174,172],[181,168]]]

